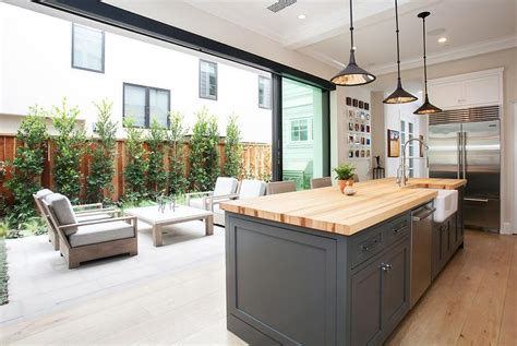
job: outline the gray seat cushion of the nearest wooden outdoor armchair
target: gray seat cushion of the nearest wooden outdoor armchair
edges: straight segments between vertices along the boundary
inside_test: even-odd
[[[77,228],[77,232],[69,236],[72,248],[134,237],[133,226],[124,222],[79,226]]]

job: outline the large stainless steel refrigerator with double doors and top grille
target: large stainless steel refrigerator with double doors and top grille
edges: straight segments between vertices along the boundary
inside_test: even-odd
[[[500,107],[447,110],[430,117],[431,178],[467,179],[465,225],[501,228]]]

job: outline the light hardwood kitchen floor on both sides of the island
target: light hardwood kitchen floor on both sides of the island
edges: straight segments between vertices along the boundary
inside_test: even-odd
[[[0,330],[1,345],[243,345],[226,331],[225,259]],[[388,345],[517,345],[517,236],[468,231]]]

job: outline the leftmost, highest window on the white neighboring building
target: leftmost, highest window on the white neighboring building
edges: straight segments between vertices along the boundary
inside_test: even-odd
[[[72,24],[72,68],[104,73],[104,32]]]

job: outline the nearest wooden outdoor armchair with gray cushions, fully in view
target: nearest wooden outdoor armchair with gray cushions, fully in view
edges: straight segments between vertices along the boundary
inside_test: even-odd
[[[59,237],[59,250],[69,269],[82,262],[117,254],[139,253],[137,220],[134,216],[77,222],[69,199],[55,193],[41,201]]]

